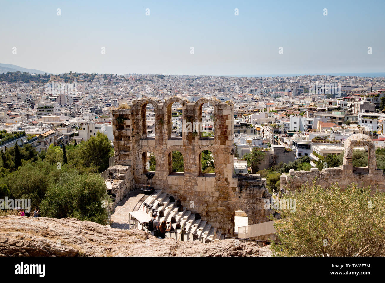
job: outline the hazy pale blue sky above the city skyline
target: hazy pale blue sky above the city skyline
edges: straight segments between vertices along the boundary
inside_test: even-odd
[[[0,63],[51,73],[385,71],[384,0],[209,2],[2,0]]]

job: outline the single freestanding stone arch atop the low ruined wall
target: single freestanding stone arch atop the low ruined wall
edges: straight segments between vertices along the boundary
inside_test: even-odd
[[[353,134],[345,141],[345,153],[343,154],[343,169],[353,171],[353,149],[356,146],[368,146],[368,170],[377,169],[375,145],[369,136],[365,134]]]

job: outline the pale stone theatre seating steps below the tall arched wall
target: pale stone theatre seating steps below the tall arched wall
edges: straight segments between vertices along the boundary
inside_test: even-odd
[[[159,206],[159,203],[163,203],[163,206]],[[195,214],[192,213],[191,210],[188,210],[186,207],[183,208],[183,211],[178,211],[178,207],[176,206],[175,201],[170,201],[170,195],[166,193],[162,193],[162,190],[155,190],[151,196],[148,196],[144,203],[139,208],[139,211],[146,211],[146,206],[152,205],[152,208],[158,211],[157,221],[166,221],[171,222],[171,218],[174,216],[176,222],[181,224],[181,228],[185,231],[183,233],[184,241],[201,241],[201,242],[209,242],[210,240],[215,239],[223,239],[223,235],[220,231],[217,231],[217,228],[211,226],[211,224],[207,223],[207,221],[203,221],[202,219],[195,219]],[[164,216],[159,216],[159,211],[164,213]],[[175,231],[181,233],[181,229],[176,229],[176,223],[172,224]],[[189,233],[186,233],[189,232]],[[167,236],[171,236],[172,238],[180,239],[181,234],[178,233],[166,233]],[[199,236],[201,237],[199,237]]]

